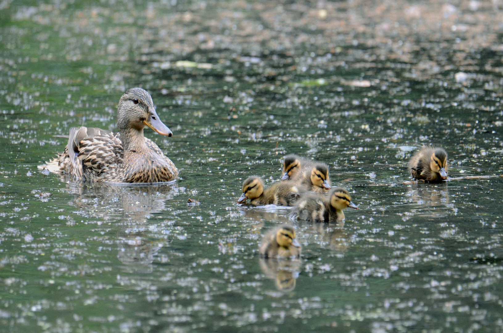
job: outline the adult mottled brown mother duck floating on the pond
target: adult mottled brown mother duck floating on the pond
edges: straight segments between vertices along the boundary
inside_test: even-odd
[[[122,95],[117,109],[119,133],[95,127],[72,127],[63,153],[39,169],[66,172],[98,182],[176,180],[177,167],[152,140],[143,136],[145,125],[161,135],[173,135],[159,120],[150,94],[141,88],[129,89]]]

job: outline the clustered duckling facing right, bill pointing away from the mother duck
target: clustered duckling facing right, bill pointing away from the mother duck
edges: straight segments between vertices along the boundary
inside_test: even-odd
[[[344,221],[343,210],[358,206],[351,201],[348,190],[336,187],[328,196],[312,193],[304,195],[290,214],[291,219],[300,219],[312,222],[342,222]]]

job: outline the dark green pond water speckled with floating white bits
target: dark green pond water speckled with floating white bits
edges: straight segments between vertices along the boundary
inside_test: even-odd
[[[501,331],[498,6],[1,1],[0,332]],[[132,87],[176,183],[37,170]],[[457,180],[404,184],[429,143]],[[294,222],[301,260],[275,263],[258,245],[290,209],[236,200],[287,153],[360,209]]]

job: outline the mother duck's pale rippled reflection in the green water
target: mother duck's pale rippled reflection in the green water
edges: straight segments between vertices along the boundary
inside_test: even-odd
[[[151,214],[165,209],[165,200],[178,192],[176,184],[158,186],[115,186],[107,184],[73,184],[67,186],[75,194],[70,205],[79,214],[115,222],[119,261],[126,271],[151,272],[151,263],[159,246],[145,234]],[[100,222],[98,222],[100,224]],[[103,223],[103,222],[102,222]]]

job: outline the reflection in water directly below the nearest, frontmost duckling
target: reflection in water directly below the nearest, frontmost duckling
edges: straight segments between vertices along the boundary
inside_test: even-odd
[[[290,292],[295,289],[300,271],[300,260],[277,260],[261,258],[260,268],[265,276],[275,281],[276,289]]]

